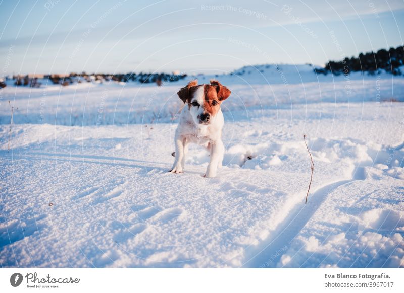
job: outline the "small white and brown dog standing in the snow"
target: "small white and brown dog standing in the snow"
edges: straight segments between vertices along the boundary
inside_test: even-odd
[[[177,94],[185,105],[175,131],[175,160],[170,172],[184,171],[188,144],[193,142],[205,146],[210,152],[211,161],[204,177],[215,177],[217,168],[222,167],[224,155],[224,118],[220,104],[230,96],[231,91],[218,81],[212,80],[210,85],[198,85],[198,81],[194,80]]]

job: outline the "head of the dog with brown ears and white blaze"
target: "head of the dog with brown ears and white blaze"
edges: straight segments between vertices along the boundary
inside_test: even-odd
[[[230,96],[231,91],[218,81],[211,80],[210,85],[198,85],[198,81],[194,80],[177,94],[188,104],[189,112],[196,124],[209,124],[215,121],[221,103]]]

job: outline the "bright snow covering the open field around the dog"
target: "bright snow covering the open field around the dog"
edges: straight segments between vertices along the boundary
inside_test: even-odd
[[[185,81],[3,89],[2,267],[404,267],[404,78],[284,71],[218,77],[209,179],[167,173]]]

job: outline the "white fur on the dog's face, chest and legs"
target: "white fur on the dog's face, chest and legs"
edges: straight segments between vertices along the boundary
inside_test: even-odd
[[[217,100],[218,104],[216,106],[218,106],[219,109],[215,115],[210,115],[211,118],[208,123],[203,123],[200,121],[200,116],[207,113],[204,103],[208,101],[208,98],[205,97],[205,86],[211,86],[212,82],[215,83],[214,87],[218,89],[218,97],[213,98],[213,100]],[[193,83],[195,84],[195,81]],[[173,168],[170,170],[171,173],[183,173],[185,156],[190,142],[203,145],[210,152],[210,163],[204,177],[216,177],[217,168],[222,167],[225,149],[222,142],[224,118],[222,110],[220,109],[220,103],[222,100],[226,99],[231,92],[219,82],[211,81],[211,85],[196,85],[196,90],[192,91],[185,101],[185,105],[180,114],[180,121],[175,131],[175,160]],[[220,99],[220,88],[218,87],[223,87],[226,90],[225,95],[228,95],[224,97],[224,99]],[[214,95],[213,91],[211,93]],[[180,92],[178,92],[178,95],[180,96]],[[192,103],[194,102],[197,102],[200,106],[193,106]]]

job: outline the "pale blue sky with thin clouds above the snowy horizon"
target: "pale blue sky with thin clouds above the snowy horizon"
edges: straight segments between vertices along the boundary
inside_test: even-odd
[[[312,63],[403,44],[404,2],[2,1],[2,75]]]

